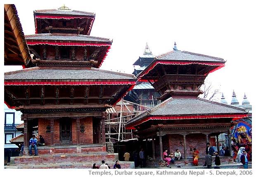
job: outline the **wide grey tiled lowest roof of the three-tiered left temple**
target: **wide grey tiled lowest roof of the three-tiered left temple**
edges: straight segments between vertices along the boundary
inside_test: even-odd
[[[19,82],[28,81],[61,81],[72,79],[72,81],[91,81],[99,80],[117,80],[117,79],[133,79],[136,81],[134,75],[112,72],[107,70],[100,70],[90,68],[89,70],[61,70],[61,69],[39,69],[38,67],[19,70],[15,72],[5,72],[5,81],[11,82],[13,80]]]

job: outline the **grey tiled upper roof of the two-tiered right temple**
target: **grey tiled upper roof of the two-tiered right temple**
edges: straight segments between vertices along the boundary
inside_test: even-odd
[[[196,54],[188,51],[171,51],[156,56],[157,60],[224,62],[223,58]]]

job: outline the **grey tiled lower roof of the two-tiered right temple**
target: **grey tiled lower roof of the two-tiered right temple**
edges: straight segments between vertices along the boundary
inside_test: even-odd
[[[150,116],[197,116],[246,114],[245,109],[202,98],[168,98],[127,122],[127,125]]]

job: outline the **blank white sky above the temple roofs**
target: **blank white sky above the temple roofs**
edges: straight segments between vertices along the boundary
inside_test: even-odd
[[[242,104],[244,93],[254,100],[255,6],[253,1],[215,0],[83,0],[3,1],[14,4],[25,35],[35,33],[33,11],[58,9],[95,12],[90,35],[113,39],[100,69],[131,74],[133,63],[145,50],[154,55],[173,50],[223,58],[225,67],[207,78],[220,85],[230,104],[232,92]],[[9,67],[4,67],[4,72]]]

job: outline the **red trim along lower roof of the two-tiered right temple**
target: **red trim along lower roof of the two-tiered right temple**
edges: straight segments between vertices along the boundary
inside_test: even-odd
[[[175,119],[220,119],[220,118],[233,118],[232,121],[246,118],[247,115],[245,114],[233,114],[233,115],[201,115],[201,116],[152,116],[147,117],[146,119],[143,119],[137,123],[134,123],[130,126],[127,126],[127,128],[138,126],[146,121],[149,120],[175,120]]]

